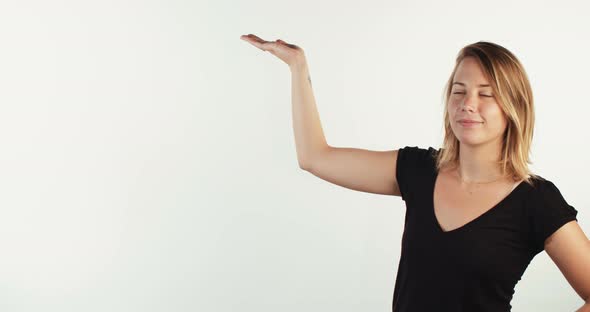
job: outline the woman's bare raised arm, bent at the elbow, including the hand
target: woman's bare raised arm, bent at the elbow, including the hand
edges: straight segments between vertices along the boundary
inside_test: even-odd
[[[299,167],[349,189],[401,196],[395,175],[397,150],[370,151],[328,145],[303,49],[280,39],[265,41],[251,34],[241,39],[272,53],[289,65],[293,131]]]

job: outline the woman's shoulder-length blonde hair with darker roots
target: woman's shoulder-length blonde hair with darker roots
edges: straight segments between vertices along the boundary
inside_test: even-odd
[[[533,92],[527,74],[520,61],[506,48],[491,42],[479,41],[463,47],[455,60],[455,68],[444,90],[444,139],[436,157],[436,167],[455,168],[459,165],[459,140],[451,129],[447,105],[453,87],[457,67],[466,57],[473,57],[492,87],[494,98],[507,118],[503,134],[501,159],[498,166],[504,175],[511,175],[515,181],[524,180],[533,185],[538,176],[532,173],[528,164],[535,112]]]

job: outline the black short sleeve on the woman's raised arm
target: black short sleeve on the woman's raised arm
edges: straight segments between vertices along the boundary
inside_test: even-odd
[[[395,178],[399,186],[402,200],[407,201],[412,192],[420,187],[424,174],[432,171],[434,165],[434,152],[432,147],[428,149],[417,146],[400,148],[397,153]]]

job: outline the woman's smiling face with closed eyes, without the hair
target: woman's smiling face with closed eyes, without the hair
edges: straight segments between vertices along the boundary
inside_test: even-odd
[[[502,143],[507,121],[489,84],[473,57],[466,57],[459,63],[447,111],[451,128],[461,145]],[[462,123],[461,119],[476,123]]]

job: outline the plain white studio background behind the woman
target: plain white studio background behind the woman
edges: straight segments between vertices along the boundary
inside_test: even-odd
[[[585,1],[0,2],[1,311],[391,311],[405,205],[301,170],[286,64],[329,144],[439,147],[486,40],[533,86],[534,172],[590,233]],[[426,295],[425,300],[428,300]],[[545,252],[513,311],[582,300]]]

